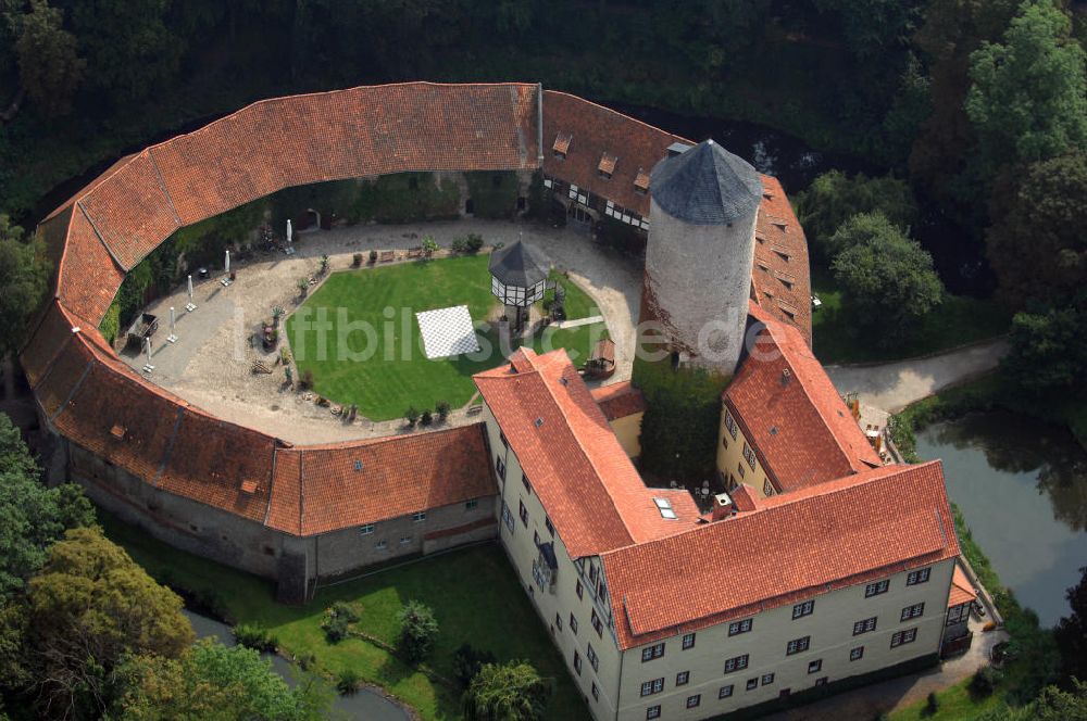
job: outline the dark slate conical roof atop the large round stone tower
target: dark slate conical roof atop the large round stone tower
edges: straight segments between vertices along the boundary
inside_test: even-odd
[[[650,188],[661,210],[692,225],[725,225],[750,215],[762,195],[755,169],[713,140],[658,163]]]

